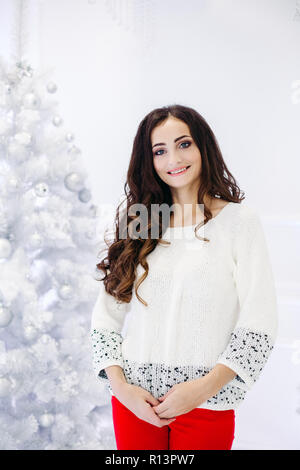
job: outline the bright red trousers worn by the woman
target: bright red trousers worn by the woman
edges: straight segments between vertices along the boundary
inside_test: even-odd
[[[118,450],[230,450],[234,410],[194,408],[161,428],[139,419],[114,395],[112,417]]]

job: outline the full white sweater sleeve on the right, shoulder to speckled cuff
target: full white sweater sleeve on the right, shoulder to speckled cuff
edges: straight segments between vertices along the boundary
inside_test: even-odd
[[[239,316],[217,363],[237,373],[231,384],[248,391],[259,378],[274,347],[278,309],[260,217],[252,207],[241,209],[233,244]]]

